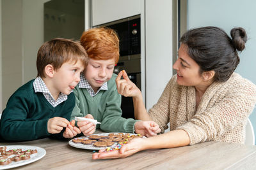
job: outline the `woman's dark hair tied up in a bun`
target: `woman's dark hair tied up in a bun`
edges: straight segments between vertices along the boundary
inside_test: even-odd
[[[200,27],[186,32],[180,42],[188,49],[188,55],[200,66],[200,74],[214,71],[214,81],[224,82],[239,64],[238,52],[244,50],[246,31],[241,27],[230,31],[231,38],[218,27]]]

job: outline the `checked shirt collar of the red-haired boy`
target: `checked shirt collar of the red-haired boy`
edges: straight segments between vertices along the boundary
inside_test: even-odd
[[[85,88],[89,92],[90,96],[95,96],[100,90],[108,90],[108,82],[103,83],[102,87],[100,87],[97,92],[95,93],[92,89],[90,83],[84,78],[84,74],[81,73],[80,75],[80,82],[78,83],[79,88]]]

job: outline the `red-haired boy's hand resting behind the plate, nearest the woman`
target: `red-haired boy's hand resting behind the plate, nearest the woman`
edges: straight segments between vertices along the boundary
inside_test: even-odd
[[[157,133],[161,132],[159,125],[154,121],[138,121],[134,125],[136,134],[151,137],[156,136]]]

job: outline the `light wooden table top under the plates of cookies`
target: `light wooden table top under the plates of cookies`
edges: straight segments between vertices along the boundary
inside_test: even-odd
[[[14,169],[256,169],[256,146],[205,142],[193,146],[145,150],[125,159],[93,160],[92,150],[67,141],[38,139],[1,145],[32,145],[46,150],[40,160]]]

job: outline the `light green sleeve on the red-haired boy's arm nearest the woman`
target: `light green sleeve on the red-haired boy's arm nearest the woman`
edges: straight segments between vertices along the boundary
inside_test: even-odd
[[[114,85],[115,86],[115,85]],[[104,111],[100,129],[106,132],[134,132],[134,124],[137,120],[132,118],[123,118],[121,106],[121,96],[115,88],[109,93],[106,102],[106,110]]]

